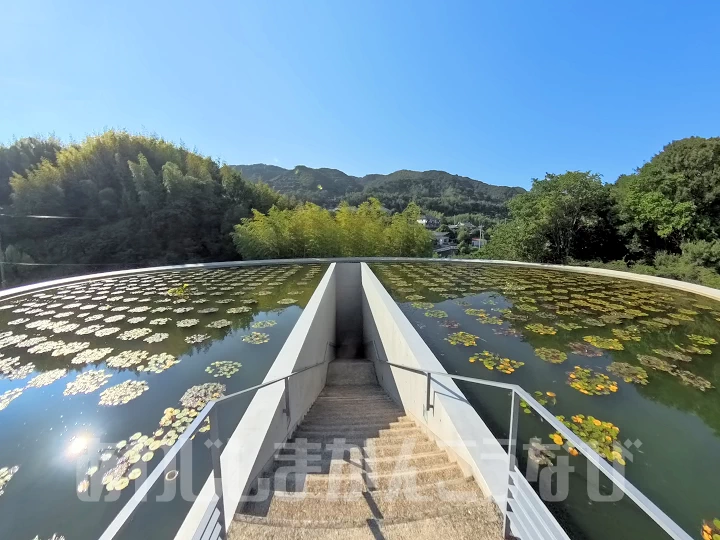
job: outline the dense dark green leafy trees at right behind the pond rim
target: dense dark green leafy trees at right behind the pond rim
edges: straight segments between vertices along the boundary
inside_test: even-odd
[[[720,138],[668,144],[633,174],[548,174],[477,256],[586,263],[720,288]]]

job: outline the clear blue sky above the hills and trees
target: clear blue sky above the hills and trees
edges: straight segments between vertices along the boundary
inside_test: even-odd
[[[107,4],[107,5],[106,5]],[[5,1],[0,141],[108,127],[229,163],[614,181],[720,135],[720,2]]]

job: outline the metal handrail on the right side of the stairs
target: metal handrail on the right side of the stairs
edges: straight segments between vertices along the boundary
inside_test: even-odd
[[[535,412],[537,412],[543,420],[548,422],[555,430],[557,430],[559,433],[562,434],[565,439],[567,439],[573,447],[575,447],[577,450],[579,450],[586,458],[587,460],[592,463],[595,467],[597,467],[605,476],[607,476],[613,484],[615,484],[617,487],[619,487],[623,493],[625,493],[630,499],[637,504],[640,509],[645,512],[660,528],[662,528],[667,534],[669,534],[672,538],[675,540],[693,540],[692,537],[687,534],[680,526],[675,523],[665,512],[663,512],[655,503],[653,503],[650,499],[648,499],[638,488],[636,488],[632,483],[630,483],[623,475],[618,473],[613,467],[608,465],[608,463],[605,461],[603,457],[600,456],[595,450],[590,448],[585,442],[580,439],[577,435],[575,435],[572,431],[570,431],[562,422],[560,422],[555,416],[548,411],[545,407],[540,405],[534,397],[532,397],[530,394],[528,394],[522,387],[518,386],[517,384],[508,384],[508,383],[501,383],[501,382],[495,382],[495,381],[488,381],[486,379],[479,379],[476,377],[467,377],[464,375],[454,375],[451,373],[447,373],[444,371],[429,371],[422,368],[415,368],[411,366],[406,366],[403,364],[396,364],[394,362],[390,362],[388,360],[382,360],[380,358],[380,355],[378,354],[377,345],[375,344],[375,341],[372,341],[373,347],[375,348],[375,356],[378,360],[378,362],[387,364],[392,367],[396,367],[399,369],[403,369],[405,371],[411,371],[413,373],[416,373],[418,375],[424,375],[428,378],[428,386],[427,386],[427,404],[430,404],[430,392],[431,392],[431,385],[430,381],[432,380],[432,377],[448,377],[450,379],[474,383],[474,384],[480,384],[483,386],[490,386],[494,388],[503,388],[505,390],[510,390],[513,392],[513,405],[518,399],[522,399],[525,401],[530,407],[532,407]],[[432,407],[430,407],[432,408]],[[518,415],[515,413],[515,407],[512,407],[511,410],[511,420],[510,420],[510,441],[509,441],[509,452],[508,455],[510,457],[511,461],[511,468],[513,467],[512,461],[513,461],[513,454],[514,454],[514,448],[517,445],[517,441],[514,440],[517,437],[517,419]],[[512,453],[510,452],[512,451]],[[512,472],[512,469],[511,469]]]

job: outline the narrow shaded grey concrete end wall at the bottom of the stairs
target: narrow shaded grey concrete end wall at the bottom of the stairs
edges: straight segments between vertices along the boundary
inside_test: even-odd
[[[338,358],[361,358],[363,355],[362,293],[360,263],[335,265],[337,294],[336,335]]]

